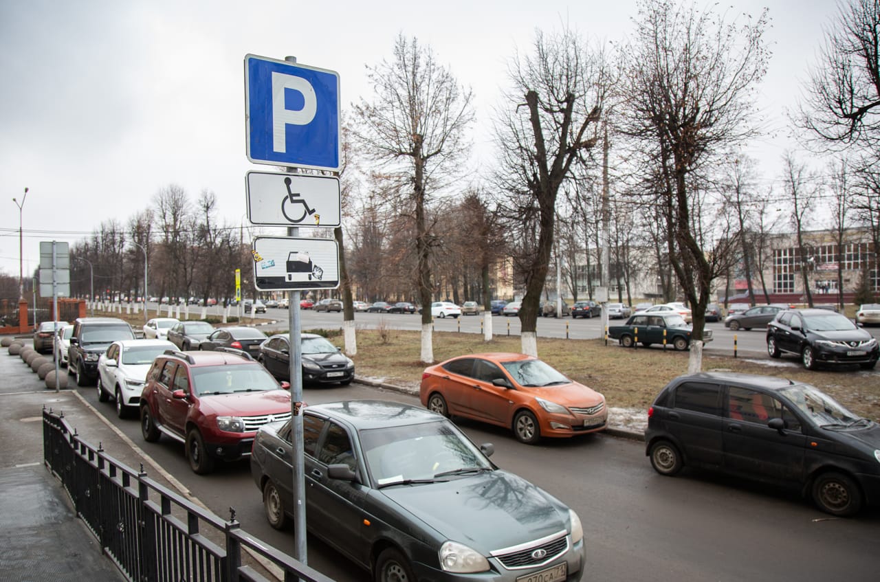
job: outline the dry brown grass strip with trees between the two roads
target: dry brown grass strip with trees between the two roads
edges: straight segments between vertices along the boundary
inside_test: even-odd
[[[130,324],[143,325],[143,314],[99,314],[121,316]],[[191,314],[191,318],[192,314]],[[266,322],[268,320],[255,320]],[[246,317],[243,323],[250,324]],[[274,331],[264,329],[267,334]],[[309,330],[304,330],[309,331]],[[341,331],[325,331],[341,346]],[[338,333],[338,337],[332,337]],[[421,358],[419,331],[382,328],[357,330],[357,375],[381,378],[385,382],[418,386],[425,365]],[[480,334],[434,332],[434,358],[443,361],[464,353],[520,352],[518,336],[496,336],[484,342]],[[672,378],[687,373],[688,353],[665,352],[656,347],[624,349],[617,342],[601,339],[538,338],[538,354],[551,366],[577,382],[605,394],[608,404],[619,408],[647,409],[656,393]],[[730,356],[705,355],[704,371],[732,371],[773,375],[808,382],[834,396],[851,411],[867,418],[880,418],[880,374],[854,370],[803,369],[793,358],[783,360],[745,360]]]

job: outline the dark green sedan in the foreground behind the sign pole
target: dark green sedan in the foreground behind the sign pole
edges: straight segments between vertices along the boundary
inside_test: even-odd
[[[351,400],[303,409],[306,526],[374,582],[576,582],[576,513],[488,460],[447,418]],[[269,524],[296,519],[290,421],[260,427],[251,471]],[[298,443],[297,443],[298,445]]]

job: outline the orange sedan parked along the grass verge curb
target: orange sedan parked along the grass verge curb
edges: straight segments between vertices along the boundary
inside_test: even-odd
[[[426,367],[420,392],[430,411],[506,426],[530,445],[608,424],[605,396],[522,353],[472,353]]]

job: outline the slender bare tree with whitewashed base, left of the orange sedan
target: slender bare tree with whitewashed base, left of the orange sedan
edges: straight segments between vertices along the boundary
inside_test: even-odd
[[[375,95],[354,105],[357,140],[406,192],[415,226],[416,286],[422,302],[422,362],[434,361],[431,341],[429,203],[443,179],[458,171],[468,149],[466,129],[473,121],[473,95],[438,62],[429,47],[399,35],[393,59],[368,67]]]

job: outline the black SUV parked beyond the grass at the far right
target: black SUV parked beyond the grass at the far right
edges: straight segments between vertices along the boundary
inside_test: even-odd
[[[857,364],[864,370],[880,358],[877,340],[840,313],[828,309],[786,309],[767,324],[767,353],[794,353],[803,367]]]

